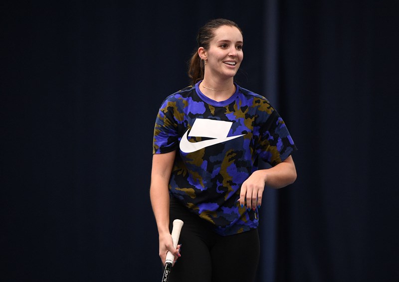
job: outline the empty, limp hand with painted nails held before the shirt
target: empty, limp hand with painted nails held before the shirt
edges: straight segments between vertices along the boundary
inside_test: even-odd
[[[241,185],[240,205],[244,206],[246,200],[247,209],[255,210],[256,206],[260,207],[265,183],[266,174],[263,171],[254,171]]]

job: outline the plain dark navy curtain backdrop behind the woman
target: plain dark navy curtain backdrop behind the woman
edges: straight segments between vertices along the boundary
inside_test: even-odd
[[[244,32],[236,82],[272,102],[299,149],[297,181],[265,192],[257,281],[398,278],[398,1],[0,11],[1,281],[159,281],[155,117],[216,17]]]

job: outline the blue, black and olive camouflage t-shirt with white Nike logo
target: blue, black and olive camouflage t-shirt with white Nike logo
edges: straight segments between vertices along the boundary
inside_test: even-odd
[[[259,158],[274,166],[296,146],[266,98],[235,85],[229,99],[216,102],[200,92],[199,83],[163,102],[153,153],[177,150],[170,194],[218,234],[254,229],[258,211],[237,202],[241,184],[257,170]]]

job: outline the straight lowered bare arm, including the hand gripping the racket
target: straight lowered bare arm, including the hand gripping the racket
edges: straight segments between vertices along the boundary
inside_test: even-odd
[[[159,256],[165,264],[166,253],[168,251],[175,255],[175,260],[179,255],[179,246],[173,248],[173,240],[169,231],[169,179],[171,177],[176,151],[153,155],[153,165],[151,171],[150,198],[153,207],[155,220],[157,222],[159,234]]]

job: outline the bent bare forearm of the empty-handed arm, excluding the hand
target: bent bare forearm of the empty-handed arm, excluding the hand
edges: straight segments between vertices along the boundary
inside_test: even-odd
[[[296,180],[295,164],[290,156],[286,161],[283,161],[276,166],[268,169],[259,169],[254,173],[259,173],[265,181],[265,185],[278,189],[294,183]]]

